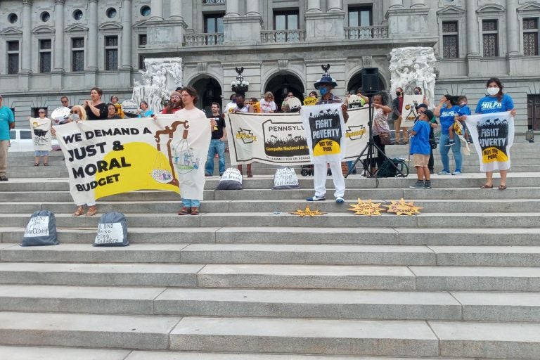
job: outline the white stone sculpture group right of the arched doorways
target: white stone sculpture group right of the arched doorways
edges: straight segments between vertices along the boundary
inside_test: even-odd
[[[390,74],[392,87],[390,94],[395,96],[401,87],[405,94],[413,94],[419,86],[428,99],[430,107],[435,103],[435,53],[428,47],[405,47],[392,49],[390,53]]]

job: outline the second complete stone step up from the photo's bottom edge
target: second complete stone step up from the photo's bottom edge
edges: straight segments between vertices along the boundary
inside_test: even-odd
[[[538,322],[539,309],[539,293],[0,285],[0,311]]]

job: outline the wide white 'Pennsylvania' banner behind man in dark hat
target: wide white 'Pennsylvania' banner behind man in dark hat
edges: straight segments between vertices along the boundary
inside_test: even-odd
[[[319,114],[320,110],[315,110],[316,106],[322,106],[326,110],[332,107],[338,108],[339,122],[336,121],[335,124],[332,124],[332,129],[336,125],[335,129],[340,131],[340,143],[337,145],[340,149],[346,149],[345,156],[338,155],[338,157],[340,160],[342,158],[355,160],[368,143],[368,108],[349,110],[349,120],[345,127],[342,127],[340,104],[304,106],[302,109],[307,111],[308,118],[309,113]],[[314,133],[311,131],[311,125],[309,128],[304,126],[299,113],[226,114],[231,165],[248,164],[253,161],[271,165],[310,164],[311,157],[306,128],[309,129],[311,143],[317,144],[326,139],[326,136],[319,138],[319,135],[324,135],[323,131]],[[315,129],[315,131],[317,130],[323,130],[323,128]],[[328,146],[326,147],[328,148]],[[335,146],[330,146],[330,148],[330,153],[335,155],[333,151],[337,148]]]

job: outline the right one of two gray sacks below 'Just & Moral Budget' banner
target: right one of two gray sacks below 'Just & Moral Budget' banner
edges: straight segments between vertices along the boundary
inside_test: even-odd
[[[98,222],[94,246],[127,246],[127,221],[121,212],[107,212]]]

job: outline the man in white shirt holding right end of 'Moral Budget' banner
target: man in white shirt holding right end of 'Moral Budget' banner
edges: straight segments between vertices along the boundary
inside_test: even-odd
[[[181,93],[182,103],[184,108],[174,113],[176,116],[186,120],[202,119],[207,121],[206,114],[203,110],[195,108],[195,103],[198,100],[197,91],[192,86],[186,86]],[[211,122],[213,128],[215,122]],[[210,139],[210,129],[208,131],[208,139]],[[179,215],[198,215],[200,208],[200,200],[203,200],[203,191],[205,188],[205,172],[204,169],[196,169],[196,179],[184,179],[179,176],[180,191],[182,195],[182,208],[178,212]]]

